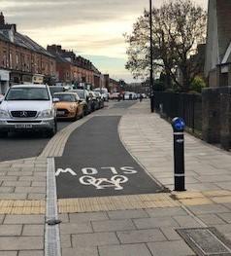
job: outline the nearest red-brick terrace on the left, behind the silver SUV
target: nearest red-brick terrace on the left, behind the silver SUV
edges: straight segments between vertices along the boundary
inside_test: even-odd
[[[0,13],[0,93],[20,83],[52,84],[55,58],[29,37],[16,31]]]

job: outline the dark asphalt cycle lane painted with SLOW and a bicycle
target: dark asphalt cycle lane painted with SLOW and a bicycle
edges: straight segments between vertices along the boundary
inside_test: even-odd
[[[119,116],[93,117],[72,133],[64,155],[55,159],[59,199],[160,191],[120,142],[119,120]]]

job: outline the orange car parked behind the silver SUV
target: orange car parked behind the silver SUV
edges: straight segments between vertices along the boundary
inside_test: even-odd
[[[58,119],[78,120],[84,116],[83,104],[75,92],[55,92],[53,98],[59,101],[54,103]]]

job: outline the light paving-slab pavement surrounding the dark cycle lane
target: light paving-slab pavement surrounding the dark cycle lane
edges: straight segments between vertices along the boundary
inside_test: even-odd
[[[231,255],[230,153],[185,134],[186,191],[174,192],[171,126],[149,113],[148,100],[123,104],[63,128],[38,157],[0,163],[0,256]],[[129,157],[164,190],[57,198],[54,158],[65,157],[69,138],[82,126],[105,117],[119,117],[118,136]],[[90,176],[102,167],[89,164],[83,171]],[[125,168],[125,176],[133,170]]]

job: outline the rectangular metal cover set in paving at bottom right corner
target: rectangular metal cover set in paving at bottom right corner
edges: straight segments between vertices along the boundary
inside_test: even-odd
[[[231,256],[231,242],[215,228],[178,229],[177,232],[198,256]]]

